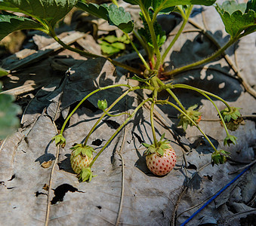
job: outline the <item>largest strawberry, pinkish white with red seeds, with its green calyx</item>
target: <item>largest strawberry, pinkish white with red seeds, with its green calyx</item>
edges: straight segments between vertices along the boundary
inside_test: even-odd
[[[171,147],[167,140],[162,141],[162,138],[158,142],[157,148],[154,144],[143,144],[147,147],[144,153],[146,155],[147,168],[157,176],[164,176],[170,173],[176,163],[174,148]]]

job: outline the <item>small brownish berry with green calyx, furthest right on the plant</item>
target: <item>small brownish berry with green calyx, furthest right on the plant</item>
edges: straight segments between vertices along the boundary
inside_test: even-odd
[[[228,108],[221,111],[221,116],[223,117],[228,130],[235,131],[238,129],[239,125],[242,124],[243,119],[239,109],[241,108],[231,107],[232,111],[229,111]]]

